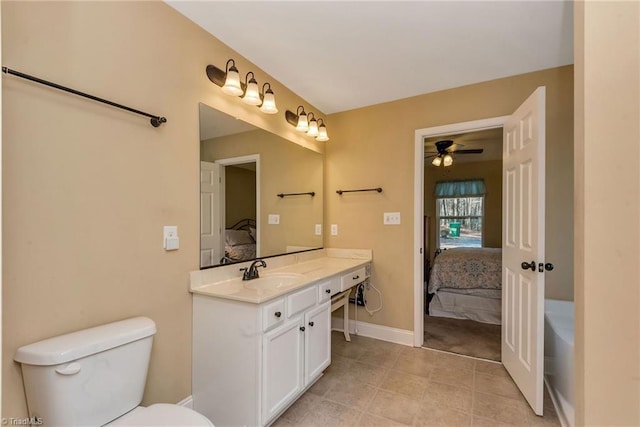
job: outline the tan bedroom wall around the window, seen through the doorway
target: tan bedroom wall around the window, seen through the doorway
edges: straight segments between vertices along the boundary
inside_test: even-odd
[[[487,189],[484,197],[483,246],[502,247],[502,160],[485,162],[457,162],[447,168],[435,167],[425,162],[424,214],[429,216],[429,257],[437,248],[436,199],[433,196],[436,182],[461,179],[483,179]]]

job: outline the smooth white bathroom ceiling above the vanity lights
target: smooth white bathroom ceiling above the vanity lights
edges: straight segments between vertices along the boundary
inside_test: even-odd
[[[573,63],[570,1],[167,3],[325,114]]]

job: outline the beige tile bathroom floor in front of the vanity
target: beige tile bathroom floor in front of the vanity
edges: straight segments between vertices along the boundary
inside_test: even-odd
[[[274,426],[560,426],[499,363],[333,332],[325,375]]]

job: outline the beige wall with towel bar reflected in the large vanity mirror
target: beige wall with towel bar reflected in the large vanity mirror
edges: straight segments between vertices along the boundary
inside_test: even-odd
[[[206,161],[250,154],[260,155],[260,254],[282,254],[287,246],[322,247],[315,224],[323,218],[323,156],[263,130],[202,142]],[[307,191],[316,195],[277,197]],[[280,215],[280,224],[269,224],[269,214]]]

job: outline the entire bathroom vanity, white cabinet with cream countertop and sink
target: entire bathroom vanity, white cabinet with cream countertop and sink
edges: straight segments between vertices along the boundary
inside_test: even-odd
[[[369,277],[371,251],[269,258],[243,281],[248,264],[191,274],[193,407],[215,425],[268,425],[320,378],[332,298]]]

